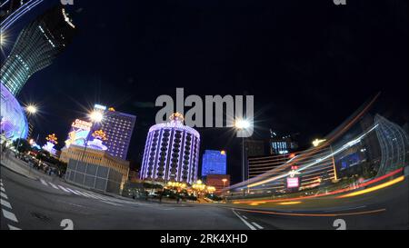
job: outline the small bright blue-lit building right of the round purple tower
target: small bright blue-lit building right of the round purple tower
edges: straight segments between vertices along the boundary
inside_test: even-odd
[[[205,150],[202,159],[202,176],[226,174],[227,156],[224,151]]]

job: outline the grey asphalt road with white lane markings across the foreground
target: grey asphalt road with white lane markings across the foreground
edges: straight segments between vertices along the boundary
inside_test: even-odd
[[[408,229],[409,184],[291,205],[153,203],[102,195],[1,166],[1,229]],[[335,223],[334,223],[335,222]]]

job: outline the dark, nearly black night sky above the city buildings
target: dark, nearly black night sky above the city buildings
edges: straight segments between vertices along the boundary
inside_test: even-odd
[[[41,108],[35,117],[40,143],[55,133],[64,144],[75,118],[106,104],[137,116],[128,157],[138,167],[160,109],[155,99],[175,97],[176,87],[203,98],[253,94],[254,137],[267,138],[273,128],[299,133],[302,146],[378,92],[384,114],[408,121],[404,0],[347,0],[344,6],[332,0],[75,0],[69,10],[79,34],[18,97]],[[226,150],[237,181],[240,139],[234,131],[198,131],[202,151]]]

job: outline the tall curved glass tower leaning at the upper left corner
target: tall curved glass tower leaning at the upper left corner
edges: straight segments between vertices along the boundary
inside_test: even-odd
[[[75,25],[61,6],[55,6],[25,26],[1,67],[1,81],[18,94],[28,78],[53,63],[75,35]]]

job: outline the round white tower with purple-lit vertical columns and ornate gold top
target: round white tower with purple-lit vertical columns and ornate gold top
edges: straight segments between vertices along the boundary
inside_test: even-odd
[[[179,113],[170,122],[153,125],[147,134],[141,179],[194,184],[199,164],[200,135]]]

